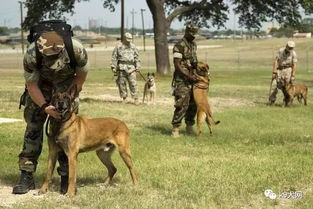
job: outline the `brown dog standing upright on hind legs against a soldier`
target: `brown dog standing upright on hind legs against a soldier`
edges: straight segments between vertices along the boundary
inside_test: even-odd
[[[210,134],[212,134],[211,124],[219,124],[220,121],[214,121],[212,117],[211,107],[208,101],[209,88],[209,66],[206,63],[198,62],[194,75],[199,79],[193,86],[193,96],[197,105],[197,128],[198,134],[202,133],[202,123],[205,120]]]

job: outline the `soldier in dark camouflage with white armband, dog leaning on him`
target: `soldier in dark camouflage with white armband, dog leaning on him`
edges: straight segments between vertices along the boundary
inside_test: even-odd
[[[197,78],[193,75],[193,69],[197,67],[197,45],[194,42],[198,28],[188,24],[184,38],[175,44],[173,48],[174,78],[173,84],[175,96],[175,111],[172,119],[172,136],[179,137],[179,126],[185,118],[187,134],[194,134],[193,125],[197,106],[193,98],[193,83]]]

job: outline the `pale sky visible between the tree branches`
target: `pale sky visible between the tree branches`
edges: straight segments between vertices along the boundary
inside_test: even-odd
[[[19,27],[20,26],[20,6],[19,0],[0,0],[0,26]],[[90,0],[89,2],[76,3],[74,9],[74,15],[66,15],[68,23],[71,25],[80,25],[83,28],[88,27],[88,20],[94,19],[99,24],[107,27],[119,27],[120,26],[120,5],[116,7],[114,13],[108,9],[103,8],[103,0]],[[141,28],[141,13],[140,9],[144,11],[145,28],[152,28],[153,21],[149,8],[145,0],[125,0],[125,27],[132,27],[132,15],[131,11],[134,9],[134,26]],[[26,10],[24,10],[24,17]],[[231,12],[229,14],[229,21],[225,24],[227,28],[233,29],[236,27],[234,24],[234,15]],[[127,27],[128,26],[128,27]],[[172,28],[181,29],[184,27],[184,22],[174,20]]]

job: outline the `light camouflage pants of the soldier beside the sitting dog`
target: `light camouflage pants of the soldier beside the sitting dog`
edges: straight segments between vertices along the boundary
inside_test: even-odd
[[[124,70],[119,70],[117,72],[116,84],[119,89],[120,97],[127,97],[127,83],[129,85],[129,90],[132,98],[138,99],[138,90],[137,90],[137,80],[136,72],[127,73]]]

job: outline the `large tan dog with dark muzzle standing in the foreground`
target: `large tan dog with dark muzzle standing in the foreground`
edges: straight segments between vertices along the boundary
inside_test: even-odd
[[[69,160],[67,196],[75,195],[77,155],[80,152],[96,150],[101,162],[108,169],[105,183],[112,182],[116,168],[111,161],[114,148],[127,165],[133,184],[137,183],[136,172],[130,154],[129,130],[126,124],[115,118],[88,119],[73,113],[73,102],[77,96],[76,86],[68,92],[54,93],[52,105],[62,114],[62,121],[51,119],[51,126],[58,126],[58,133],[48,137],[48,172],[39,193],[48,191],[58,152],[62,149]],[[53,128],[50,129],[53,133]]]

